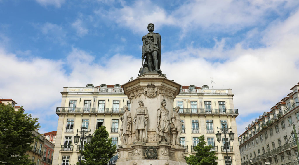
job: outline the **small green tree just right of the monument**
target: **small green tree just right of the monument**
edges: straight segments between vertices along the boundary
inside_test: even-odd
[[[217,165],[218,157],[215,156],[215,151],[210,151],[213,147],[207,146],[205,135],[199,137],[199,143],[194,147],[195,156],[189,155],[186,157],[187,164],[190,165]]]

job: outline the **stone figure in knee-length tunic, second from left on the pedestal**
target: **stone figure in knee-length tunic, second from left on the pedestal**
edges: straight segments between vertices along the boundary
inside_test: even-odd
[[[148,111],[147,107],[144,107],[143,101],[138,101],[139,107],[136,109],[136,113],[133,119],[135,125],[135,140],[140,142],[147,142],[147,120]]]

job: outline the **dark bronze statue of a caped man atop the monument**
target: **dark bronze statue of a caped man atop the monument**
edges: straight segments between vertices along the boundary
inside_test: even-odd
[[[150,72],[162,72],[161,65],[161,36],[154,33],[155,25],[150,23],[147,25],[149,33],[142,37],[142,58],[145,58],[143,67],[148,67]]]

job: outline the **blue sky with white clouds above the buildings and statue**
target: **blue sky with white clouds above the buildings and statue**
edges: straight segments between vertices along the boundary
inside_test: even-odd
[[[299,82],[299,1],[0,0],[0,97],[57,130],[63,87],[124,84],[147,24],[161,70],[181,85],[231,88],[237,134]]]

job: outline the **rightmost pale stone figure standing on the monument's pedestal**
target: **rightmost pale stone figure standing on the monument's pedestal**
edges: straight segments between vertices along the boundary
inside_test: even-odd
[[[171,121],[172,121],[171,125],[172,125],[172,127],[174,127],[176,129],[176,135],[175,135],[176,142],[175,143],[181,145],[180,136],[181,136],[181,133],[183,130],[182,125],[184,125],[184,123],[181,122],[179,110],[180,110],[180,107],[176,106],[175,112],[173,112],[172,117],[171,117]]]

